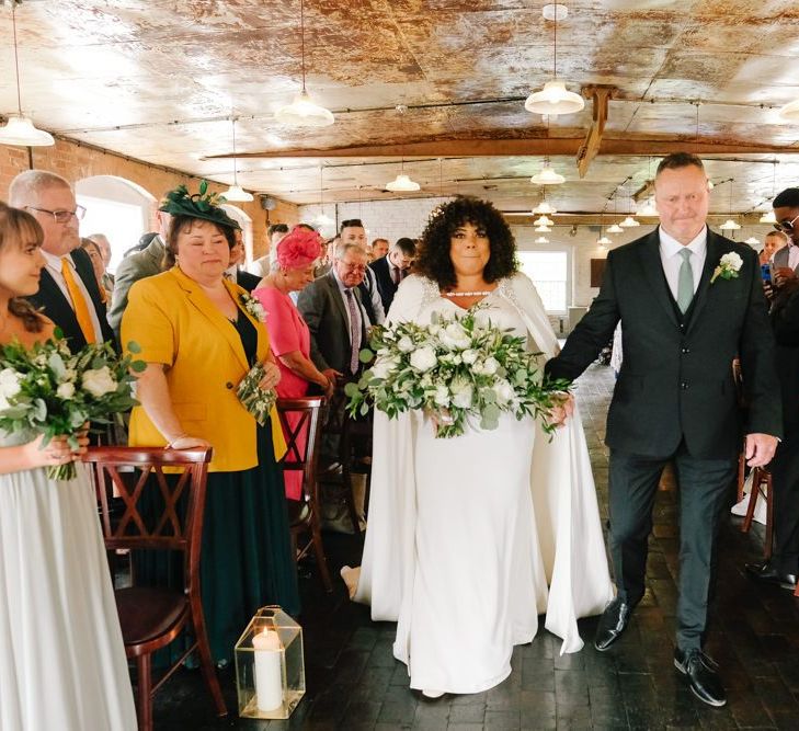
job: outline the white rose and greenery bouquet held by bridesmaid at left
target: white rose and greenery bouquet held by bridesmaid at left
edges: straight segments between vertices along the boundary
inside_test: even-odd
[[[130,353],[140,351],[128,344]],[[43,434],[43,446],[66,436],[78,447],[87,422],[122,422],[122,412],[138,401],[133,397],[135,373],[147,367],[129,355],[121,357],[110,343],[93,343],[72,354],[60,338],[25,347],[19,342],[0,346],[0,429]],[[55,480],[71,480],[75,462],[47,468]]]

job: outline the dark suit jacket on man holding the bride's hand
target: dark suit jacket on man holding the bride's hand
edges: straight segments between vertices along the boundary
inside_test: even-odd
[[[741,358],[749,403],[746,433],[781,436],[774,335],[757,254],[708,230],[707,258],[682,316],[660,260],[658,229],[610,251],[602,288],[547,373],[577,378],[621,320],[624,362],[607,415],[613,449],[665,457],[682,439],[688,453],[726,459],[741,447],[732,359]],[[743,260],[737,278],[710,277],[721,256]]]

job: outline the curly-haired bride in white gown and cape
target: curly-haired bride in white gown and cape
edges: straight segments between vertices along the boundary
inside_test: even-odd
[[[436,208],[415,274],[390,322],[427,324],[478,302],[495,327],[526,335],[541,365],[557,340],[515,244],[489,203]],[[545,627],[561,652],[583,646],[579,617],[613,598],[585,436],[575,412],[549,438],[532,418],[503,414],[435,438],[419,411],[375,413],[373,492],[363,566],[342,570],[375,620],[397,621],[393,654],[429,697],[480,693],[511,673],[514,644]]]

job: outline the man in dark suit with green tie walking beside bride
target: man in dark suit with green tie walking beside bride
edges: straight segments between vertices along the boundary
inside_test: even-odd
[[[606,437],[618,594],[600,619],[594,644],[607,650],[643,596],[654,496],[672,461],[681,522],[674,664],[700,700],[723,706],[723,685],[701,650],[715,539],[742,431],[750,466],[768,464],[781,436],[774,338],[756,253],[707,228],[701,160],[684,152],[664,158],[654,190],[660,227],[610,251],[598,296],[547,373],[577,378],[621,321],[625,357]],[[749,402],[746,424],[732,378],[735,356]]]

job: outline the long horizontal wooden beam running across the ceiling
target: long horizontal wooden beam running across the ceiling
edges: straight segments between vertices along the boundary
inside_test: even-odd
[[[573,157],[585,140],[573,138],[527,138],[527,139],[438,139],[399,145],[353,145],[332,148],[284,148],[259,152],[237,152],[235,157],[250,159],[272,158],[399,158],[404,157],[505,157],[550,156]],[[742,144],[730,141],[664,139],[609,139],[598,142],[598,155],[662,157],[670,152],[689,151],[695,155],[799,155],[799,146]],[[232,158],[233,153],[209,155],[205,160]]]

